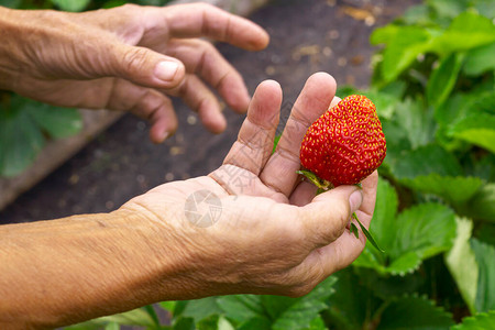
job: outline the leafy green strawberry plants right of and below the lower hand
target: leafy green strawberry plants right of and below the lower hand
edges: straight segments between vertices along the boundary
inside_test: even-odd
[[[69,329],[494,329],[494,19],[491,0],[427,0],[372,34],[370,89],[338,92],[373,100],[387,140],[370,228],[384,253],[367,243],[300,298],[167,301]]]

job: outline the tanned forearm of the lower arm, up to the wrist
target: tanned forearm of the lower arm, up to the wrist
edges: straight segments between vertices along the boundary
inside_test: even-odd
[[[0,227],[0,328],[54,328],[173,297],[180,253],[166,241],[160,226],[119,211]]]

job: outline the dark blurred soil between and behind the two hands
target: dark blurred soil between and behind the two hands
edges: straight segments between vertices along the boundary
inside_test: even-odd
[[[328,72],[338,84],[369,85],[369,43],[376,26],[388,23],[418,0],[279,0],[250,19],[265,28],[270,46],[249,53],[218,44],[242,74],[250,91],[265,79],[284,90],[282,120],[306,79]],[[244,119],[228,109],[228,129],[208,133],[180,100],[174,102],[179,130],[162,145],[147,138],[147,123],[125,114],[66,164],[0,212],[0,223],[108,212],[133,196],[169,180],[206,175],[221,165]]]

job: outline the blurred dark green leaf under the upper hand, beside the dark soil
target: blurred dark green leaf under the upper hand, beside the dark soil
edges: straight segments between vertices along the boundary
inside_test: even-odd
[[[82,129],[82,119],[76,109],[57,108],[34,101],[26,101],[24,109],[52,138],[72,136]]]

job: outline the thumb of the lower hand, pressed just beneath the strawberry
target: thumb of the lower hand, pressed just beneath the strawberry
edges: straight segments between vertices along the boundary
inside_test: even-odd
[[[315,248],[337,240],[362,201],[361,188],[356,186],[339,186],[315,197],[310,204],[302,207],[302,222],[308,240]]]

